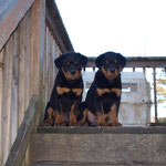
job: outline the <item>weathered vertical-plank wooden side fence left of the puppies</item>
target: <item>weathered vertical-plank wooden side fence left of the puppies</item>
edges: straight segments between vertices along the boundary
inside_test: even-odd
[[[0,50],[0,165],[7,160],[34,94],[42,116],[56,74],[54,59],[73,51],[64,30],[54,1],[35,0]]]

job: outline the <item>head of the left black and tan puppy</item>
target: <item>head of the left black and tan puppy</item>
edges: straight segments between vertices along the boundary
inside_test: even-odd
[[[87,58],[81,53],[69,52],[58,58],[54,63],[63,72],[66,80],[79,80],[82,68],[85,68],[87,63]]]

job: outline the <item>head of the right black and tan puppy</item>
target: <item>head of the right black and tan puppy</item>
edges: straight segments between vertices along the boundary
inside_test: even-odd
[[[120,53],[106,52],[97,56],[95,64],[106,79],[114,80],[120,76],[121,71],[126,64],[126,59]]]

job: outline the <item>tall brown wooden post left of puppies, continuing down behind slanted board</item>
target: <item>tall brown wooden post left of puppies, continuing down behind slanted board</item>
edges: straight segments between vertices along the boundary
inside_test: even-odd
[[[39,96],[38,110],[42,111],[42,85],[43,85],[43,59],[45,44],[45,0],[35,0],[31,10],[30,29],[30,96]],[[40,122],[39,113],[38,122]],[[25,164],[29,164],[29,152],[27,152]]]

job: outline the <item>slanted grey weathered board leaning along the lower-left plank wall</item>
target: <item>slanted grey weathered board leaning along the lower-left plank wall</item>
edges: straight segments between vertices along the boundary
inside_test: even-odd
[[[31,137],[38,115],[37,101],[38,97],[35,95],[30,101],[30,105],[18,131],[15,142],[11,147],[6,166],[20,166],[24,158],[25,149],[29,144],[29,139]]]

